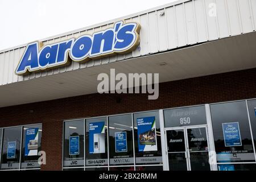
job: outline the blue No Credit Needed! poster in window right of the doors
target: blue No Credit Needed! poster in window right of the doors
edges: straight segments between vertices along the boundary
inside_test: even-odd
[[[238,122],[222,123],[225,147],[242,146]]]

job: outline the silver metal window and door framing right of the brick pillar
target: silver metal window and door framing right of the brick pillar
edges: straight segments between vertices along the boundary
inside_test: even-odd
[[[210,105],[214,105],[214,104],[224,104],[224,103],[229,103],[229,102],[239,102],[239,101],[245,101],[246,102],[246,108],[247,108],[247,116],[249,119],[249,125],[250,125],[250,132],[251,132],[251,138],[252,138],[252,142],[253,142],[253,133],[252,133],[252,129],[251,129],[251,122],[250,122],[250,115],[249,115],[249,108],[247,105],[247,101],[249,100],[256,100],[256,98],[249,98],[249,99],[243,99],[243,100],[233,100],[233,101],[224,101],[224,102],[213,102],[210,104],[199,104],[199,105],[189,105],[189,106],[179,106],[179,107],[169,107],[169,108],[164,108],[164,109],[155,109],[155,110],[144,110],[144,111],[137,111],[137,112],[129,112],[129,113],[121,113],[121,114],[110,114],[110,115],[101,115],[101,116],[96,116],[96,117],[86,117],[86,118],[74,118],[74,119],[68,119],[68,120],[64,120],[64,122],[70,122],[70,121],[77,121],[79,119],[83,119],[84,121],[84,136],[85,136],[85,125],[86,125],[86,119],[94,119],[94,118],[107,118],[107,123],[108,123],[108,127],[107,127],[107,131],[109,132],[109,117],[113,117],[113,116],[118,116],[118,115],[128,115],[131,114],[132,117],[132,126],[133,126],[133,140],[135,139],[134,136],[134,114],[139,114],[139,113],[147,113],[147,112],[152,112],[152,111],[158,111],[159,113],[159,124],[160,124],[160,133],[163,133],[163,135],[161,135],[161,147],[162,147],[162,160],[163,160],[163,164],[146,164],[146,165],[141,165],[141,164],[136,164],[136,156],[135,156],[135,143],[133,142],[133,152],[134,152],[134,170],[136,169],[137,166],[163,166],[163,170],[166,169],[167,166],[167,161],[164,159],[166,158],[167,155],[166,154],[166,131],[165,131],[165,127],[164,127],[164,110],[168,110],[168,109],[180,109],[180,108],[185,108],[185,107],[196,107],[196,106],[204,106],[205,107],[205,115],[206,115],[206,120],[207,120],[207,124],[205,124],[206,126],[206,130],[207,130],[207,137],[208,137],[208,147],[209,147],[209,152],[210,151],[216,151],[215,150],[215,144],[214,144],[214,136],[213,136],[213,128],[212,128],[212,114],[210,113]],[[191,125],[191,127],[198,127],[201,125]],[[188,126],[189,127],[189,126]],[[172,127],[174,128],[174,127]],[[63,138],[64,138],[64,124],[63,124]],[[109,138],[109,133],[108,133],[108,138]],[[84,145],[85,145],[85,140],[84,140]],[[254,143],[253,143],[254,146]],[[63,146],[63,150],[64,150],[64,146]],[[84,148],[84,153],[85,153],[85,148]],[[255,162],[241,162],[241,163],[237,163],[237,164],[256,164],[256,152],[255,152],[255,146],[254,146],[254,156],[255,156]],[[209,155],[209,158],[212,158],[212,160],[214,160],[213,164],[210,164],[210,168],[212,171],[217,171],[217,165],[218,164],[236,164],[236,163],[217,163],[216,161],[216,154],[214,154],[213,156]],[[85,154],[84,154],[84,160],[85,160]],[[110,166],[109,163],[109,139],[108,139],[108,166],[85,166],[84,164],[84,168],[102,168],[102,167],[126,167],[125,165],[120,165],[120,166]],[[62,160],[63,162],[63,160]],[[131,166],[131,165],[127,165],[127,166]],[[82,167],[63,167],[63,168],[82,168]]]

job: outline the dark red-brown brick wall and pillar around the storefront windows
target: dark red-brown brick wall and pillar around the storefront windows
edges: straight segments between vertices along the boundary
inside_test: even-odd
[[[42,170],[61,170],[63,120],[256,98],[256,69],[165,82],[147,94],[89,94],[0,108],[0,127],[43,123]],[[0,88],[1,89],[1,88]],[[119,102],[118,102],[119,100]]]

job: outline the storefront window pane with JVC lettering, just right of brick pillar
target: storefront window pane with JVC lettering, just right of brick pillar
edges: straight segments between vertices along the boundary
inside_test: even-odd
[[[64,122],[64,167],[84,166],[84,119]]]

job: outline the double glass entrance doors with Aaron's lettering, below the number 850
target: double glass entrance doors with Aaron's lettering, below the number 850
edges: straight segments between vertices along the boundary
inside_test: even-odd
[[[205,126],[166,129],[170,171],[210,170]]]

